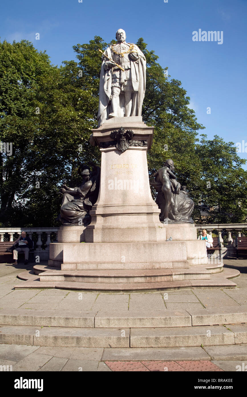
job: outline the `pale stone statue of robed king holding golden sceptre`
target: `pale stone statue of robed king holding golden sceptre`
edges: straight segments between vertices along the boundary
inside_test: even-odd
[[[142,115],[146,89],[146,58],[140,48],[127,43],[119,29],[117,44],[102,55],[98,127],[106,119]]]

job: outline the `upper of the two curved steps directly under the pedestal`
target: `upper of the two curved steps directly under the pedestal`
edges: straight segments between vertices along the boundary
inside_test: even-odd
[[[144,270],[47,270],[40,281],[74,281],[80,283],[149,283],[176,280],[210,279],[202,269],[144,269]]]

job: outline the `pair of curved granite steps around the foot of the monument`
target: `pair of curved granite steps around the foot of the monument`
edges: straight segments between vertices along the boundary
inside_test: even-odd
[[[34,272],[39,274],[35,275]],[[99,292],[172,291],[199,287],[231,288],[236,287],[236,283],[230,279],[240,274],[238,270],[228,268],[223,272],[211,274],[211,270],[203,266],[193,266],[189,270],[62,271],[48,269],[48,266],[42,268],[42,265],[38,265],[34,272],[25,271],[18,274],[19,278],[27,281],[15,285],[14,288],[58,288]]]

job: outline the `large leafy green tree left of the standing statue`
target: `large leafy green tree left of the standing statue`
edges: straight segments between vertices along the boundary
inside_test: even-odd
[[[26,40],[0,43],[0,64],[0,140],[13,147],[0,157],[0,219],[53,225],[59,184],[73,179],[83,152],[94,160],[92,96],[77,83],[76,62],[52,66]]]

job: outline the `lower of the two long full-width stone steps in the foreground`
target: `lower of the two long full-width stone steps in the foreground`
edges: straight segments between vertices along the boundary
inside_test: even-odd
[[[65,328],[3,325],[0,326],[0,343],[60,347],[207,347],[247,343],[247,324],[230,325],[228,328]]]

